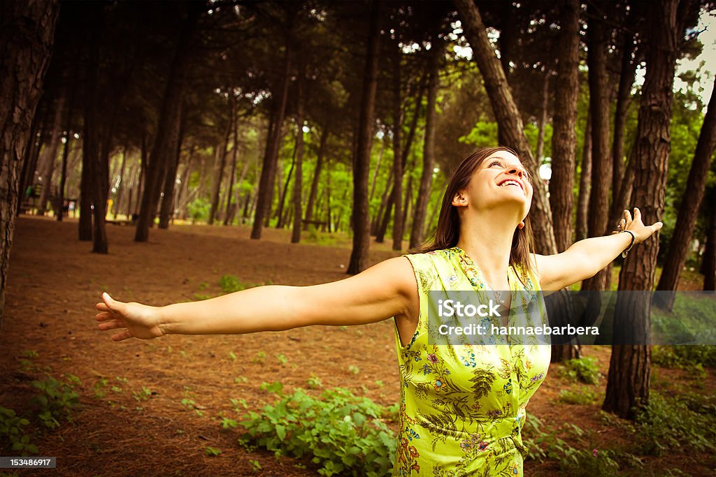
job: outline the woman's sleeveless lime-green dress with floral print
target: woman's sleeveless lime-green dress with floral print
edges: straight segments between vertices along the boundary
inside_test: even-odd
[[[547,374],[551,347],[508,344],[508,336],[488,344],[436,344],[427,321],[435,300],[428,300],[428,292],[479,293],[485,280],[459,247],[405,257],[415,270],[420,318],[406,346],[395,329],[401,400],[393,476],[522,476],[525,408]],[[526,303],[520,296],[532,293],[538,313],[528,320],[546,325],[544,304],[534,300],[537,277],[509,267],[508,280],[512,310]],[[518,313],[510,313],[510,325],[513,315]],[[485,324],[497,319],[472,318]]]

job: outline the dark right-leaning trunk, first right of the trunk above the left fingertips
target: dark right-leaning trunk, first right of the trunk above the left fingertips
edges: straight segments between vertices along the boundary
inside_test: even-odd
[[[189,67],[190,42],[199,16],[204,11],[203,2],[190,2],[188,12],[177,42],[177,48],[169,67],[167,84],[159,114],[157,137],[154,141],[149,164],[145,169],[145,185],[142,193],[142,207],[135,242],[149,240],[149,227],[154,223],[154,215],[159,200],[159,189],[170,161],[174,159],[176,144],[181,127],[181,108],[184,95],[185,77]]]

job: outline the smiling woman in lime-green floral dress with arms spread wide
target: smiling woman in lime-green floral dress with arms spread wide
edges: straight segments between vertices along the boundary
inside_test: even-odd
[[[547,373],[549,347],[508,344],[509,337],[495,345],[439,345],[427,323],[435,308],[429,292],[493,290],[501,309],[510,310],[518,292],[560,290],[591,277],[662,227],[645,226],[638,209],[633,220],[625,210],[619,224],[624,233],[536,255],[528,217],[532,194],[515,152],[480,149],[455,170],[435,241],[421,253],[385,260],[338,282],[256,287],[165,307],[122,303],[104,293],[97,303],[99,328],[122,329],[112,336],[120,341],[394,318],[402,384],[394,475],[521,475],[525,408]],[[543,322],[543,305],[538,310]],[[503,315],[483,320],[511,323],[512,315]]]

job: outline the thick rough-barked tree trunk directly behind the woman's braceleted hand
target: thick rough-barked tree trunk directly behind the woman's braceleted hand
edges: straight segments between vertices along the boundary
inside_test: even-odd
[[[649,9],[647,74],[639,106],[637,139],[632,149],[634,162],[634,203],[639,205],[644,222],[662,217],[667,184],[671,137],[669,123],[676,67],[677,0],[654,2]],[[652,290],[659,252],[658,232],[629,254],[619,273],[619,290]],[[622,418],[634,418],[634,410],[649,403],[651,348],[639,343],[650,334],[651,303],[647,293],[619,294],[614,323],[620,345],[611,348],[609,378],[602,409]],[[624,336],[621,334],[624,333]],[[633,340],[632,340],[633,339]],[[641,341],[644,343],[644,341]]]

